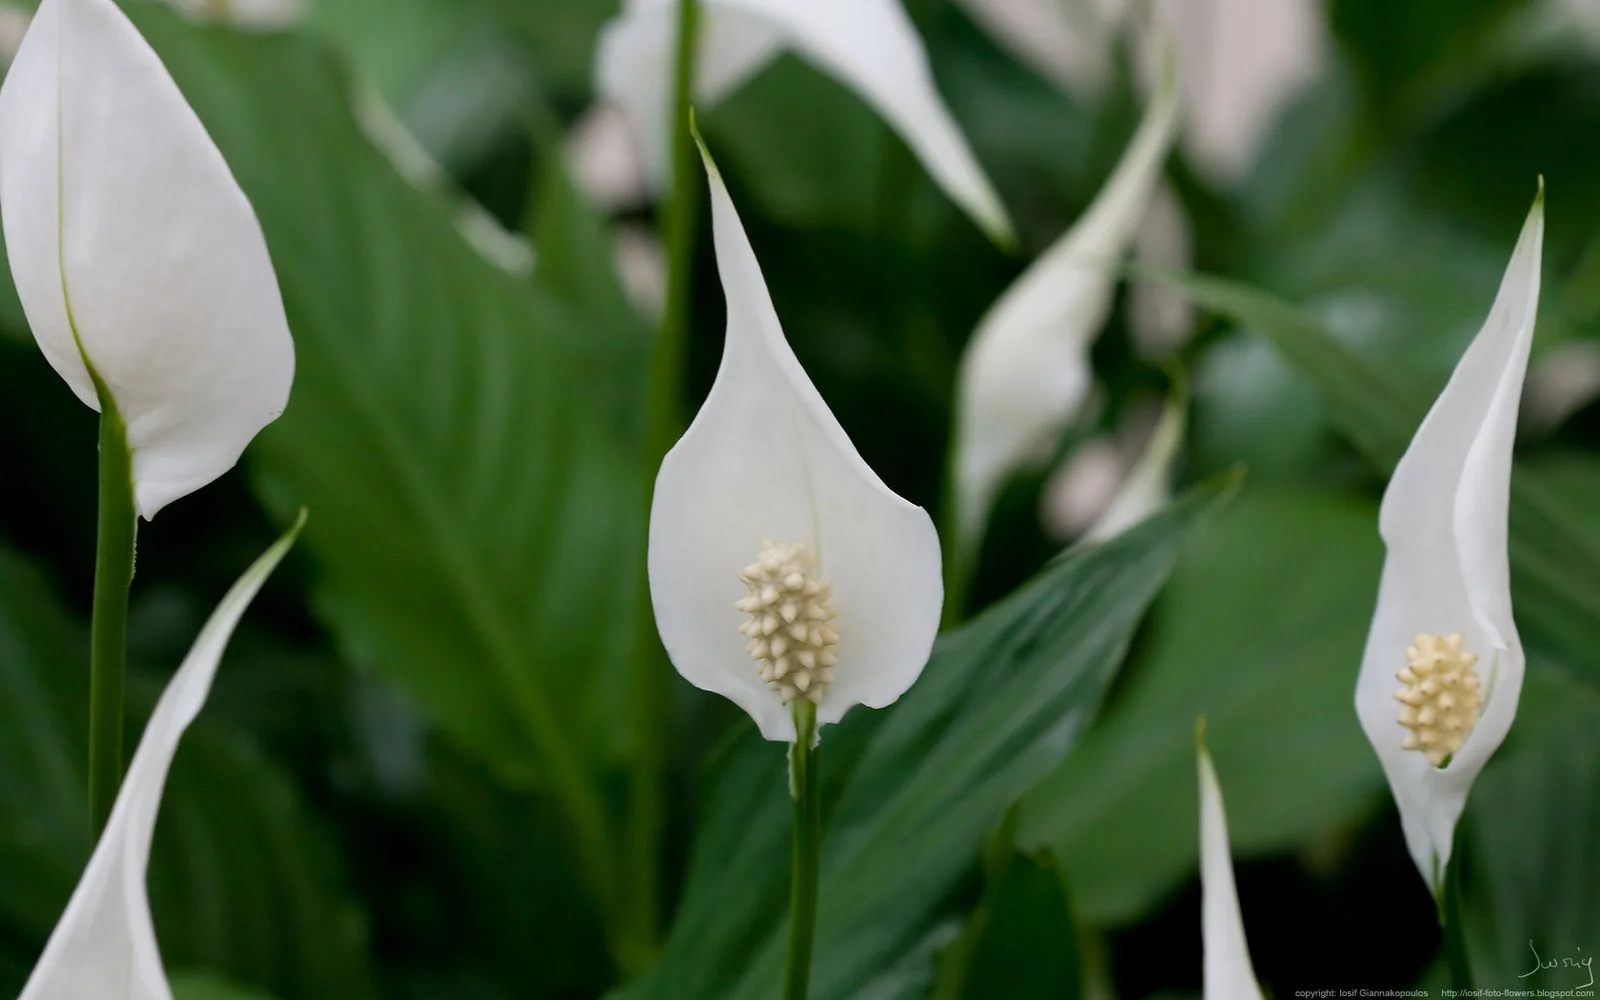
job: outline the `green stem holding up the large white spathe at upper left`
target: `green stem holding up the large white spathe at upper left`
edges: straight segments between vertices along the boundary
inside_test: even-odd
[[[122,702],[128,659],[128,587],[139,512],[133,502],[133,453],[110,392],[101,402],[99,539],[94,546],[94,611],[90,632],[90,821],[94,838],[122,787]]]

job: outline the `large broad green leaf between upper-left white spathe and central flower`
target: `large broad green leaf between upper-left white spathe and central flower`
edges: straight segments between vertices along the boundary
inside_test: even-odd
[[[603,885],[594,770],[622,752],[645,534],[632,443],[597,402],[613,355],[395,174],[320,46],[136,13],[274,254],[298,371],[254,470],[277,514],[315,510],[323,618],[461,746],[547,781]]]

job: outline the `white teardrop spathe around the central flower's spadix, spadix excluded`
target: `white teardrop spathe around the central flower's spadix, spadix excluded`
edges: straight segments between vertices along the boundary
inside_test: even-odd
[[[650,509],[650,595],[678,672],[794,742],[790,709],[762,680],[734,605],[766,541],[808,546],[837,608],[835,680],[818,725],[899,698],[922,674],[944,584],[933,520],[856,453],[784,339],[728,190],[706,157],[717,266],[728,301],[722,366],[661,462]]]

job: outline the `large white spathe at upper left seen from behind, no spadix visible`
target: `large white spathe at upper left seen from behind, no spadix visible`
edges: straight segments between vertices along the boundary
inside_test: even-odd
[[[90,366],[154,517],[238,461],[294,378],[250,202],[112,0],[45,0],[0,88],[0,213],[34,338],[80,400]]]

